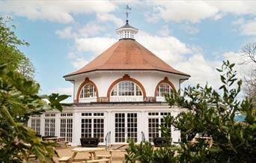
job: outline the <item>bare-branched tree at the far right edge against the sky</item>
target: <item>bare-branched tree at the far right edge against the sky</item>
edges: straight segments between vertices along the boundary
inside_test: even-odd
[[[248,62],[252,62],[256,65],[256,43],[248,43],[246,46],[243,47],[242,53],[245,56],[246,60],[244,64]],[[245,78],[246,86],[245,92],[246,96],[252,98],[252,102],[256,108],[256,68],[252,68],[251,76]]]

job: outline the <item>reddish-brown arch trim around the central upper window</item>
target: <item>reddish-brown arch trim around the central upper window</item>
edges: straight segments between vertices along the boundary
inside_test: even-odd
[[[143,98],[146,96],[146,91],[145,91],[143,85],[141,84],[141,82],[138,82],[138,80],[133,79],[133,78],[129,77],[128,75],[124,75],[123,78],[115,80],[115,82],[112,82],[112,84],[109,86],[109,90],[108,90],[108,93],[107,93],[108,98],[110,97],[110,93],[111,93],[113,87],[115,87],[115,84],[118,84],[119,82],[123,82],[123,81],[134,82],[135,84],[138,85],[138,87],[141,88]]]

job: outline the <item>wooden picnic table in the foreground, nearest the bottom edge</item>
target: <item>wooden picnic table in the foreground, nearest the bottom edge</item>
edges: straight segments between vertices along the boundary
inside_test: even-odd
[[[73,150],[73,155],[71,156],[69,162],[82,162],[85,161],[85,159],[75,159],[77,153],[89,153],[90,159],[94,160],[96,157],[97,151],[105,151],[105,148],[96,148],[96,147],[76,147]],[[89,160],[90,160],[89,159]]]

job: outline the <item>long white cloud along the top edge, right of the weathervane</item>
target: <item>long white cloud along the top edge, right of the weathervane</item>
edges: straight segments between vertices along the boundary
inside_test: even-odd
[[[256,1],[149,1],[153,6],[147,15],[149,22],[200,22],[203,19],[221,19],[227,13],[256,16]]]

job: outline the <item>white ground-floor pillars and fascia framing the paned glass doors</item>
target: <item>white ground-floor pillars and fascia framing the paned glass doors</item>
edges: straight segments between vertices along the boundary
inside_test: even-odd
[[[64,108],[63,113],[73,113],[73,142],[72,146],[80,145],[81,138],[81,119],[82,113],[104,113],[104,137],[106,137],[108,132],[111,132],[111,142],[115,142],[115,113],[137,113],[138,117],[138,142],[141,140],[141,132],[144,132],[146,141],[148,141],[148,112],[171,112],[174,117],[177,116],[182,111],[186,111],[184,108],[168,108],[168,105],[89,105],[86,107],[73,106],[71,108]],[[48,113],[55,113],[55,135],[60,136],[60,112],[58,111],[48,111]],[[41,126],[40,135],[44,135],[45,119],[44,114],[41,115]],[[28,126],[31,126],[31,120],[28,120]],[[175,131],[174,127],[171,128],[171,137],[175,142],[180,140],[180,132]],[[105,145],[100,143],[100,145]]]

